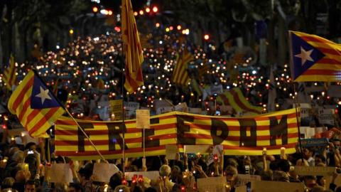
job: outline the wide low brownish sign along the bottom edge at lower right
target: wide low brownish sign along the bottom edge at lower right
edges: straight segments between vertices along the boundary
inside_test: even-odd
[[[303,183],[288,183],[278,181],[251,181],[252,192],[304,192]]]

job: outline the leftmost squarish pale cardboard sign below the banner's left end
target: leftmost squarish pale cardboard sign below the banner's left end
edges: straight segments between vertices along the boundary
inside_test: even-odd
[[[69,164],[52,164],[48,173],[51,183],[72,183],[72,172]]]

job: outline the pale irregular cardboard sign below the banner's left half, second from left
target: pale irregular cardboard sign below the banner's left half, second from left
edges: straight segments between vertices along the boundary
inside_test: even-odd
[[[94,171],[92,174],[94,175],[94,181],[109,183],[112,175],[119,172],[119,168],[115,164],[94,164]]]

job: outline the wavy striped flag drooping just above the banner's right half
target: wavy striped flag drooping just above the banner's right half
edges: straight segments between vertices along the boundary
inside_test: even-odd
[[[261,114],[262,108],[251,105],[238,87],[218,95],[217,102],[231,106],[236,112]]]

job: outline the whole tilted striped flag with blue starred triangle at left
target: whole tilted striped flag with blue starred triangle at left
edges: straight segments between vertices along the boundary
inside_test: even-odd
[[[64,113],[60,102],[33,70],[16,87],[8,107],[33,137],[43,136]]]

